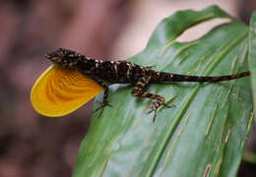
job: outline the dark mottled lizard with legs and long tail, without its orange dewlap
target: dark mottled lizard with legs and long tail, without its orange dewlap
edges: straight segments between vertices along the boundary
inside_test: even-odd
[[[78,70],[87,77],[95,80],[96,83],[104,89],[101,106],[96,109],[100,109],[101,112],[105,106],[110,105],[107,100],[108,86],[105,84],[105,82],[109,83],[110,85],[132,84],[134,86],[132,95],[157,100],[152,104],[150,110],[150,112],[155,112],[153,121],[156,120],[157,110],[160,105],[164,105],[165,100],[164,97],[158,94],[143,91],[143,89],[150,84],[171,82],[215,83],[234,80],[250,75],[250,72],[217,77],[177,75],[158,72],[149,67],[142,67],[127,61],[102,61],[91,59],[75,51],[64,48],[59,48],[54,52],[47,53],[45,57],[60,67]]]

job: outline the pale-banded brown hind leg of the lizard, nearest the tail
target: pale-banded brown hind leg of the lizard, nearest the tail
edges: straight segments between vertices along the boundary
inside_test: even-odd
[[[165,103],[165,100],[164,100],[164,97],[158,94],[153,94],[150,92],[143,91],[143,89],[149,84],[150,80],[151,80],[150,77],[140,79],[136,83],[134,89],[132,90],[132,95],[138,96],[138,97],[147,97],[150,99],[157,99],[157,101],[152,104],[151,110],[150,110],[150,113],[154,111],[153,122],[155,122],[157,117],[157,110],[160,107],[160,105],[163,105]]]

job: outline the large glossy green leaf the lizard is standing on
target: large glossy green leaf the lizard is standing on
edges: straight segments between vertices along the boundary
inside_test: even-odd
[[[191,42],[175,41],[186,29],[214,18],[230,23]],[[164,19],[146,49],[129,61],[197,76],[247,71],[248,31],[216,6],[180,11]],[[100,118],[94,115],[73,176],[235,176],[252,124],[249,77],[151,85],[149,92],[173,105],[161,107],[155,123],[147,113],[151,100],[131,96],[129,85],[110,88],[113,107]]]

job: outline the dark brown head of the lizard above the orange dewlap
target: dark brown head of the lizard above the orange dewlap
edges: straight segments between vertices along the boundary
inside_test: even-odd
[[[59,48],[53,52],[47,53],[45,57],[60,67],[73,68],[77,65],[82,55],[73,50]]]

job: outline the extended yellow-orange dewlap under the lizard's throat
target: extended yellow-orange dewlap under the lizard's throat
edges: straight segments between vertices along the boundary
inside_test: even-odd
[[[41,115],[69,114],[93,99],[103,89],[78,71],[50,66],[32,87],[32,106]]]

